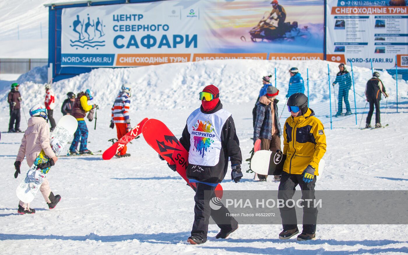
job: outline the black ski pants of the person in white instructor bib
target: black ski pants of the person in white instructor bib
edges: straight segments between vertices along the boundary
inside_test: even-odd
[[[229,232],[238,227],[238,222],[229,214],[228,209],[222,205],[220,209],[213,210],[210,207],[210,200],[215,197],[215,187],[204,183],[197,182],[197,191],[195,192],[194,201],[194,223],[191,230],[191,236],[199,237],[204,241],[207,240],[208,223],[210,216],[222,230]]]

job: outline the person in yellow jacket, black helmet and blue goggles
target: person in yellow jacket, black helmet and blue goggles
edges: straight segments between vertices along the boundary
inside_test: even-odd
[[[314,177],[319,175],[319,161],[326,152],[324,126],[314,116],[315,112],[308,108],[307,96],[295,93],[288,98],[287,106],[291,116],[286,119],[283,132],[283,154],[286,154],[286,160],[278,198],[285,201],[285,207],[279,208],[283,225],[279,239],[289,239],[299,233],[295,207],[286,206],[286,201],[292,199],[298,184],[302,190],[302,199],[315,199]],[[317,208],[314,208],[313,201],[310,206],[307,203],[303,205],[303,231],[297,240],[313,240],[316,237]]]

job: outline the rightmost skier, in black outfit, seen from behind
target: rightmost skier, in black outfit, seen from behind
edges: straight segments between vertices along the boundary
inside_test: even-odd
[[[373,78],[368,80],[366,84],[366,98],[370,104],[370,110],[368,111],[366,119],[366,128],[371,128],[371,117],[373,116],[375,106],[375,128],[381,128],[380,123],[380,100],[381,94],[388,97],[388,93],[385,91],[384,84],[379,79],[380,74],[378,72],[373,73]],[[381,93],[380,93],[381,92]]]

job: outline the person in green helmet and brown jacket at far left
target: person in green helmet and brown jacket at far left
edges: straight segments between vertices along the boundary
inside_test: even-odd
[[[21,132],[20,130],[20,102],[21,94],[18,91],[18,83],[11,84],[11,91],[7,97],[7,102],[10,105],[10,122],[9,122],[9,132]],[[14,126],[14,128],[13,128]]]

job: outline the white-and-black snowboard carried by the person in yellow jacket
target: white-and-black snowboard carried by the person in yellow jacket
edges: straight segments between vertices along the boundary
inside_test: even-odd
[[[259,150],[255,152],[251,160],[251,169],[257,174],[264,175],[281,175],[283,171],[283,164],[286,155],[272,152],[269,150]],[[322,177],[325,165],[324,159],[319,162],[319,175],[316,176],[316,181]]]

